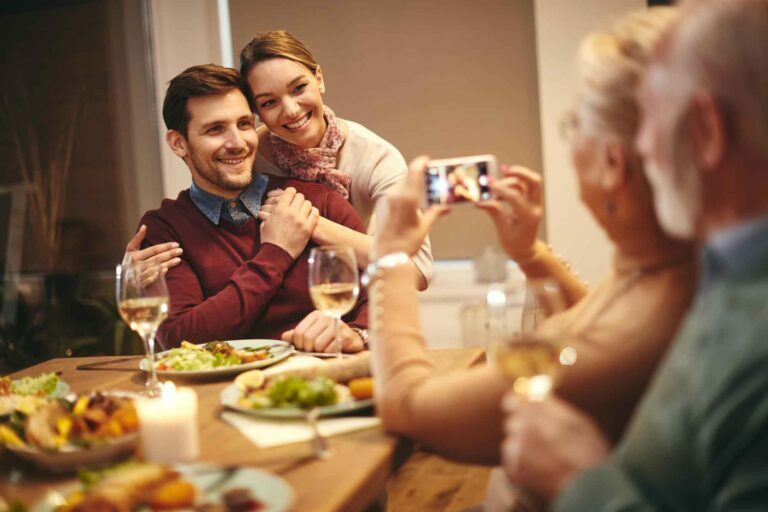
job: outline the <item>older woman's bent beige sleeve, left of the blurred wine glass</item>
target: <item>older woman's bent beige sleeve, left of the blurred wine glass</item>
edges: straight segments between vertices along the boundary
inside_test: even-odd
[[[384,425],[444,456],[498,464],[502,377],[488,365],[436,375],[421,334],[412,271],[399,266],[381,272],[369,300],[376,407]]]

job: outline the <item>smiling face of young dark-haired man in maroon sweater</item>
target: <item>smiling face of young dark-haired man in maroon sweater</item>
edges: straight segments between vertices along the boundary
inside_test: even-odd
[[[187,154],[195,183],[221,197],[234,198],[248,188],[259,139],[243,93],[198,96],[187,102]]]

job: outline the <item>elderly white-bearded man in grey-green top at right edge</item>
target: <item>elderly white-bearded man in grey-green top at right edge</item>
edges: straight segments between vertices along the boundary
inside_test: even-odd
[[[687,5],[642,102],[658,216],[704,242],[696,302],[610,458],[566,404],[509,396],[505,469],[558,510],[768,510],[768,0]]]

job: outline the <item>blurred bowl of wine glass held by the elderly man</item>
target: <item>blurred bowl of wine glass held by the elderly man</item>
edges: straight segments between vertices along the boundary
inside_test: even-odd
[[[518,307],[508,308],[496,323],[496,364],[515,393],[543,400],[576,361],[575,349],[566,344],[568,323],[553,318],[565,311],[565,299],[549,279],[528,280],[522,304],[519,293],[516,298]]]

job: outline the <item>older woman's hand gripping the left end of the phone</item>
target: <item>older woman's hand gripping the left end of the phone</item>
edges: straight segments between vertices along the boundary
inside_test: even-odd
[[[447,206],[438,205],[430,206],[423,214],[419,211],[425,194],[424,169],[428,160],[426,156],[413,160],[408,174],[379,201],[371,245],[372,261],[393,252],[413,256],[435,221],[448,213]]]

